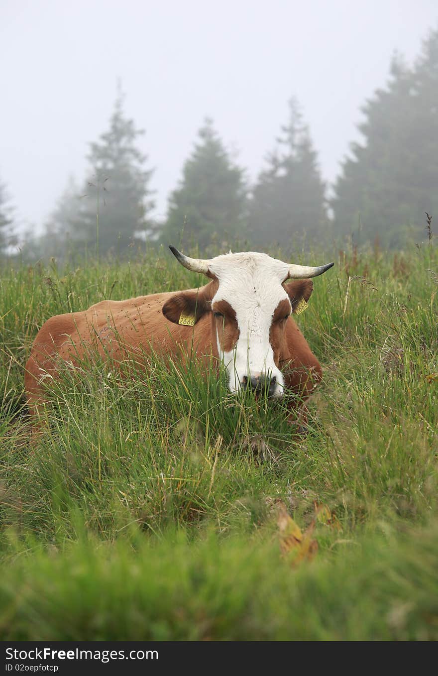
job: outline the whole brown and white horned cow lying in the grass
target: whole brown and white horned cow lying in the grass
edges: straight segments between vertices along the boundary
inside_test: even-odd
[[[306,401],[322,370],[293,314],[310,298],[310,278],[333,263],[301,266],[254,251],[201,260],[170,250],[181,265],[210,281],[197,289],[101,301],[43,324],[25,372],[35,423],[47,400],[47,379],[96,350],[104,360],[120,364],[151,350],[185,360],[216,358],[226,368],[231,393],[245,389],[276,399],[289,391],[297,395],[291,397],[291,408],[297,406],[293,402]]]

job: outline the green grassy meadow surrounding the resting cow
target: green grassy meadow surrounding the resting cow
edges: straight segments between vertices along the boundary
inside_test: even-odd
[[[307,435],[284,403],[154,357],[66,370],[33,446],[47,318],[204,280],[165,249],[3,264],[1,639],[438,639],[437,247],[293,262],[328,260],[297,318],[324,370]]]

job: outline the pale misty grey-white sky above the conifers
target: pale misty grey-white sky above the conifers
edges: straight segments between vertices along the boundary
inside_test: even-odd
[[[411,61],[437,25],[437,0],[0,0],[0,178],[40,226],[82,183],[121,78],[159,218],[205,116],[252,179],[292,95],[333,180],[393,51]]]

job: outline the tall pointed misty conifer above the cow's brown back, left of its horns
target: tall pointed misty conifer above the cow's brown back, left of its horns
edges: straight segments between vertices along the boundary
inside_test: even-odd
[[[89,247],[98,236],[100,254],[126,252],[138,233],[153,228],[148,187],[153,171],[143,168],[147,157],[135,145],[144,131],[124,116],[122,103],[119,93],[109,130],[91,143],[91,176],[71,233]]]

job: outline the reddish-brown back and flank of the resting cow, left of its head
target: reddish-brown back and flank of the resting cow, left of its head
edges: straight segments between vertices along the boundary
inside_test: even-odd
[[[60,368],[83,360],[103,358],[122,364],[145,354],[207,357],[214,352],[211,321],[203,317],[195,327],[168,322],[162,307],[176,292],[155,293],[123,301],[101,301],[84,312],[48,319],[34,339],[26,363],[24,385],[30,410],[45,400],[42,385],[55,379]],[[34,411],[35,412],[35,411]]]

